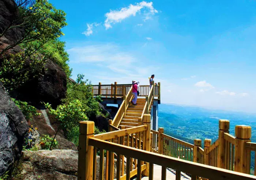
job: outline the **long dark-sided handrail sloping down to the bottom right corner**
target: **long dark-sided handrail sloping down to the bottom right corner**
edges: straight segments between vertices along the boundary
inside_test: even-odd
[[[147,161],[152,164],[158,164],[161,166],[166,166],[172,169],[178,169],[178,171],[186,172],[189,174],[196,174],[200,177],[205,177],[208,179],[236,179],[236,180],[256,180],[256,176],[229,171],[226,169],[216,168],[204,164],[199,164],[195,162],[180,160],[178,158],[173,158],[169,156],[164,156],[161,154],[156,154],[153,152],[148,152],[145,150],[139,150],[123,145],[114,144],[107,141],[102,141],[96,138],[89,139],[90,146],[96,146],[98,148],[105,148],[106,150],[113,151],[116,153],[121,153],[124,156],[132,156],[133,158],[139,158],[142,161]],[[129,163],[128,163],[129,164]]]

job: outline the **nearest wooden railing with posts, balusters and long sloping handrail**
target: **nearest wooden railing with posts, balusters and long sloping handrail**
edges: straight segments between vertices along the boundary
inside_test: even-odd
[[[142,126],[117,130],[99,135],[93,134],[94,122],[80,122],[78,179],[95,180],[98,172],[100,180],[113,180],[114,178],[117,180],[130,180],[130,178],[135,175],[137,175],[137,179],[141,180],[142,174],[144,176],[149,176],[149,180],[152,180],[154,175],[154,164],[160,165],[162,167],[162,172],[161,175],[159,174],[159,176],[161,176],[161,179],[163,180],[166,179],[167,168],[176,170],[176,180],[181,179],[181,172],[190,174],[191,180],[200,179],[199,177],[210,180],[256,179],[256,176],[150,152],[149,114],[144,115],[143,122],[144,125]],[[153,131],[152,133],[155,132]],[[139,134],[143,135],[140,136]],[[141,143],[141,145],[138,145],[139,143]],[[246,143],[246,147],[248,148],[249,144],[248,142]],[[252,146],[255,147],[254,145]],[[98,150],[100,156],[99,169],[97,171]],[[104,158],[105,150],[107,152],[106,158]],[[199,151],[203,150],[199,148]],[[114,154],[117,154],[116,177],[114,177]],[[104,162],[106,166],[105,171]]]

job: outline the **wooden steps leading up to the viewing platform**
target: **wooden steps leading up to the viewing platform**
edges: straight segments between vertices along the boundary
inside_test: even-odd
[[[125,112],[120,125],[125,126],[125,128],[139,126],[139,118],[142,117],[145,104],[145,98],[138,98],[136,106],[134,106],[132,103],[129,103],[127,111]],[[149,113],[151,112],[151,107],[152,106],[149,108]]]

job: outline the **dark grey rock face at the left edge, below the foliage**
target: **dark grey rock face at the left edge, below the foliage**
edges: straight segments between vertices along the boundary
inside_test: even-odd
[[[20,156],[23,138],[28,130],[22,112],[0,83],[0,176]]]

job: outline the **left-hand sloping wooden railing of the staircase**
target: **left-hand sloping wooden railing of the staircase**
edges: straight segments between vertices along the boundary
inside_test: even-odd
[[[133,97],[132,87],[130,87],[127,95],[123,96],[124,100],[123,100],[122,104],[120,105],[120,107],[119,107],[119,109],[118,109],[118,111],[117,111],[117,113],[116,113],[116,115],[115,115],[115,117],[114,117],[114,119],[111,123],[113,126],[115,126],[117,128],[119,127],[119,125],[121,123],[121,120],[123,119],[123,117],[126,114],[126,110],[129,106],[129,102],[131,102],[131,100],[132,100],[132,97]]]

